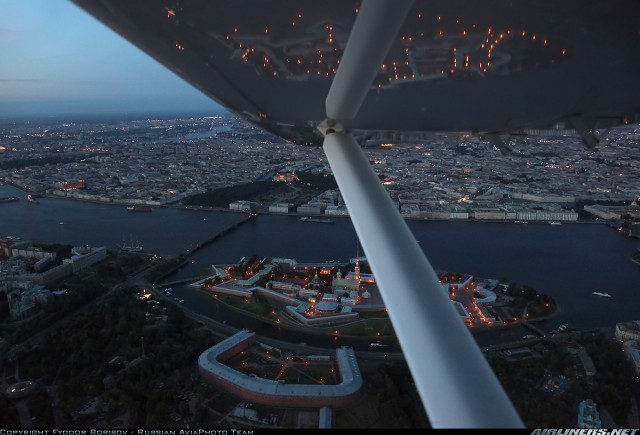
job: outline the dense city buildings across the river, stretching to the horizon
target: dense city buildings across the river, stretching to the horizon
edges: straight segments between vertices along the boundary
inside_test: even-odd
[[[239,33],[234,33],[231,40],[238,37]],[[318,54],[313,47],[295,46],[295,50],[306,53],[304,56]],[[262,65],[262,55],[256,59]],[[449,56],[446,62],[452,59]],[[421,62],[413,60],[418,63],[407,68]],[[280,67],[294,65],[297,63]],[[325,62],[316,65],[326,66]],[[441,77],[440,71],[436,72]],[[292,73],[300,77],[308,74],[306,69]],[[197,139],[185,141],[179,132],[187,129]],[[367,157],[406,217],[571,221],[576,214],[570,208],[576,201],[635,198],[640,188],[640,150],[635,130],[621,127],[608,132],[606,143],[598,145],[597,156],[583,152],[577,135],[559,137],[557,131],[518,136],[516,152],[508,156],[496,155],[489,140],[471,134],[413,132],[409,137],[397,132],[355,131],[354,135],[363,145],[377,145],[366,148]],[[263,131],[232,115],[76,122],[64,128],[56,121],[16,125],[12,133],[0,132],[1,151],[8,161],[58,159],[60,153],[74,158],[68,159],[69,163],[0,169],[0,180],[21,189],[78,200],[161,205],[247,183],[267,173],[277,181],[292,182],[295,174],[306,170],[331,172],[321,148],[271,140]],[[52,141],[65,146],[46,146]],[[95,164],[78,165],[80,157]],[[274,162],[279,165],[275,176]],[[317,207],[321,203],[324,214],[348,215],[338,191],[332,192],[312,199],[310,204]],[[501,212],[490,217],[483,217],[482,211],[472,215],[476,208],[500,208],[505,203],[522,205],[523,209],[503,210],[504,218]],[[545,215],[553,209],[551,206],[566,209],[560,209],[561,216]],[[513,213],[517,212],[534,215],[515,217]],[[602,213],[599,216],[605,219],[620,214],[615,210]]]

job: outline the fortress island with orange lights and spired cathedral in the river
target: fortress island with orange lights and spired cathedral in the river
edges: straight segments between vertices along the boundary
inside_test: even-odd
[[[268,323],[310,333],[371,337],[373,345],[395,339],[366,257],[299,263],[292,258],[244,257],[211,267],[190,287],[220,303]],[[557,312],[550,296],[500,279],[436,271],[441,288],[472,330],[530,326]]]

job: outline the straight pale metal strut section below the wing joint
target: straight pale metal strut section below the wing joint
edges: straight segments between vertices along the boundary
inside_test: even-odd
[[[323,148],[433,427],[523,427],[360,146]]]

